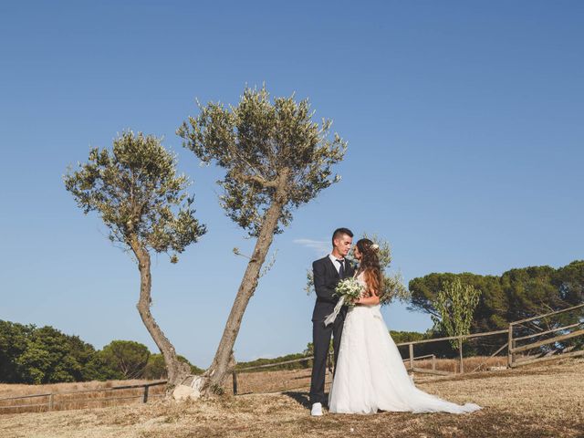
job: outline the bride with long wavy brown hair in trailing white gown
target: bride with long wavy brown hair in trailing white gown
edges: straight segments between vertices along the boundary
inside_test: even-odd
[[[459,405],[442,400],[413,384],[381,317],[382,277],[377,249],[369,239],[360,239],[355,247],[355,258],[360,261],[355,275],[364,292],[345,318],[339,363],[328,394],[329,412],[464,413],[481,409],[474,403]]]

